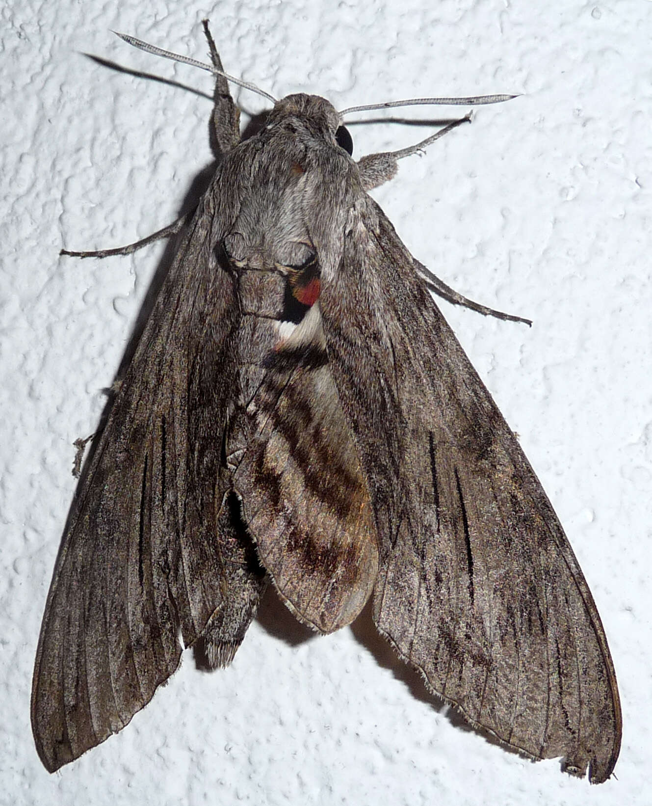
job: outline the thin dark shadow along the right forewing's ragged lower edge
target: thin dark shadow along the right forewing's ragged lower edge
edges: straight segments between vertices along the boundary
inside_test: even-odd
[[[391,644],[383,638],[383,636],[376,629],[372,618],[372,602],[368,601],[362,613],[351,624],[351,633],[354,635],[356,641],[372,653],[376,659],[376,663],[384,669],[392,672],[392,675],[409,689],[410,694],[416,699],[429,704],[434,708],[437,713],[441,714],[455,728],[463,730],[467,733],[477,733],[483,737],[489,744],[500,747],[502,750],[507,750],[514,755],[523,758],[523,755],[512,747],[505,746],[504,742],[496,738],[492,733],[484,728],[476,728],[470,725],[467,720],[454,706],[446,703],[442,697],[438,696],[426,685],[426,681],[419,671],[410,667],[405,661],[401,660],[396,650],[392,649]]]

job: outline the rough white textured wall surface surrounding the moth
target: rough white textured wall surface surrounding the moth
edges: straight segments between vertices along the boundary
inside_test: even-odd
[[[164,245],[103,261],[58,251],[176,217],[210,163],[211,78],[110,29],[204,59],[206,16],[226,69],[276,96],[342,108],[522,93],[403,160],[374,195],[446,282],[534,319],[442,303],[595,596],[621,688],[617,780],[590,787],[488,743],[431,700],[368,613],[318,638],[272,592],[228,670],[186,653],[123,733],[56,775],[41,766],[31,672],[76,485],[71,443],[98,422]],[[2,23],[0,802],[649,803],[652,3],[10,0]],[[356,156],[429,131],[351,130]]]

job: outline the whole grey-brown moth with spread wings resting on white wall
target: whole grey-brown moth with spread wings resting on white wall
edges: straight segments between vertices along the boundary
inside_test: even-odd
[[[429,289],[488,310],[368,196],[441,132],[356,162],[343,115],[368,107],[258,90],[274,106],[241,141],[205,28],[221,159],[197,210],[152,236],[179,246],[56,560],[31,699],[41,760],[55,771],[123,729],[176,670],[180,633],[230,663],[272,584],[322,634],[371,598],[380,634],[471,725],[608,779],[621,710],[596,605]]]

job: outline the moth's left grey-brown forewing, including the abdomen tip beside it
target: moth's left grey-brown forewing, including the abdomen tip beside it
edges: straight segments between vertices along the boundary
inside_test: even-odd
[[[245,155],[246,156],[246,155]],[[241,160],[242,158],[238,158]],[[233,160],[231,160],[233,162]],[[189,226],[116,397],[64,534],[48,595],[31,718],[48,770],[118,731],[213,614],[230,659],[260,574],[218,512],[239,327],[235,280],[214,244],[237,213],[247,166],[222,165]]]

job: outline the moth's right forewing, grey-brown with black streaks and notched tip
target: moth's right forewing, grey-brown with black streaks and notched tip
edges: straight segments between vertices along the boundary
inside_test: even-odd
[[[380,633],[472,724],[608,778],[621,713],[591,593],[517,439],[368,197],[349,209],[339,263],[322,267],[320,304],[379,530]]]

